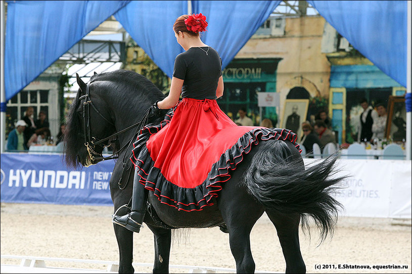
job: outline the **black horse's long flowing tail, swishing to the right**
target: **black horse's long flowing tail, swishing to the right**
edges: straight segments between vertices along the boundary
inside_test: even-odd
[[[345,177],[331,178],[338,155],[332,155],[305,170],[297,152],[284,141],[267,141],[253,156],[245,172],[248,192],[266,209],[299,213],[302,226],[313,217],[321,230],[321,242],[333,233],[338,209],[342,205],[332,197]]]

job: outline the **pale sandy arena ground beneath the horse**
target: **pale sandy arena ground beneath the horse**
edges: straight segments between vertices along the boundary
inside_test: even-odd
[[[1,204],[1,254],[117,261],[111,223],[112,207],[48,204]],[[170,264],[235,268],[228,235],[218,228],[181,231],[173,240]],[[410,220],[340,217],[332,239],[318,246],[301,232],[300,245],[308,273],[411,273]],[[285,260],[274,226],[266,215],[251,233],[256,270],[284,272]],[[153,234],[134,234],[134,262],[153,263]],[[47,266],[106,269],[107,265],[46,262]],[[1,264],[20,264],[1,259]],[[405,265],[406,269],[316,269],[316,265]],[[135,267],[151,272],[151,267]],[[187,269],[170,268],[172,273]]]

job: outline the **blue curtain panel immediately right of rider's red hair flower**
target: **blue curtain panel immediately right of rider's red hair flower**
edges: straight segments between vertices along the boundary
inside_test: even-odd
[[[192,1],[206,15],[202,41],[219,52],[225,68],[281,1]]]

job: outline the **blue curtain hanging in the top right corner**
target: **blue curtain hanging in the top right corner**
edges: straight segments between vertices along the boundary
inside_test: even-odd
[[[375,66],[406,87],[406,1],[307,1]]]

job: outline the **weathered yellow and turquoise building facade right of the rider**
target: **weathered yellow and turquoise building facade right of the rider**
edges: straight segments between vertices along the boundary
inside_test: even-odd
[[[285,127],[286,101],[308,99],[306,120],[313,122],[315,114],[326,109],[340,144],[356,141],[360,98],[367,98],[375,106],[377,103],[387,104],[390,95],[402,96],[406,91],[318,15],[269,17],[228,67],[247,64],[250,60],[272,69],[270,79],[262,79],[266,89],[261,91],[279,93],[279,107],[267,107],[262,119],[272,118],[272,113],[276,112],[279,117],[277,126]],[[236,82],[226,75],[231,74],[224,74],[225,83]],[[253,85],[250,87],[254,88]],[[250,91],[248,97],[251,97]],[[255,101],[245,102],[249,103],[250,115],[256,116]],[[255,119],[256,124],[258,121]]]

